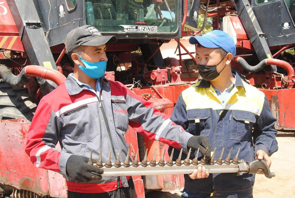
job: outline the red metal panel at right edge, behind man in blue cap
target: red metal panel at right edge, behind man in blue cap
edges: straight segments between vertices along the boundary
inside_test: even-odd
[[[295,130],[295,89],[260,89],[268,98],[273,116],[278,120],[277,130]]]

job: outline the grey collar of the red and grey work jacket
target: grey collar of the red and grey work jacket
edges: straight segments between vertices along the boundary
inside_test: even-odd
[[[110,82],[103,76],[100,78],[101,88],[103,84],[110,84]],[[67,89],[69,95],[79,94],[83,90],[89,90],[84,85],[79,85],[70,75],[65,79],[65,88]]]

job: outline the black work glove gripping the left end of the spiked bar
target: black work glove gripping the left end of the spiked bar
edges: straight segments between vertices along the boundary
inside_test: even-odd
[[[90,180],[101,180],[100,174],[104,171],[101,168],[87,164],[88,161],[89,158],[85,156],[71,155],[68,158],[65,170],[71,178],[78,182],[86,183]]]

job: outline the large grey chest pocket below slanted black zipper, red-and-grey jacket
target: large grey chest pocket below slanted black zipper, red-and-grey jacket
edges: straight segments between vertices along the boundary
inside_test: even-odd
[[[87,104],[72,109],[62,114],[64,133],[69,133],[72,140],[89,142],[99,133],[99,127],[94,119],[93,112]]]

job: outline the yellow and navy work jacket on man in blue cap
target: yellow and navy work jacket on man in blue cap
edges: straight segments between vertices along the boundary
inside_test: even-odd
[[[177,100],[171,120],[192,135],[206,136],[211,148],[217,148],[214,160],[220,156],[223,147],[224,160],[232,147],[231,160],[241,148],[239,159],[250,162],[254,160],[257,150],[263,150],[268,155],[278,150],[277,131],[274,128],[276,119],[271,114],[264,93],[243,82],[237,73],[235,78],[235,87],[228,101],[224,101],[225,105],[209,81],[201,80],[184,90]],[[177,158],[177,152],[174,153],[173,158]],[[192,180],[185,175],[185,189],[213,193],[213,197],[249,197],[253,192],[254,178],[255,174],[236,176],[225,173]]]

